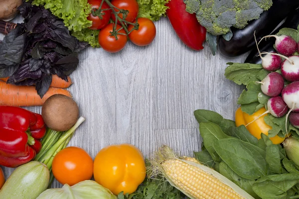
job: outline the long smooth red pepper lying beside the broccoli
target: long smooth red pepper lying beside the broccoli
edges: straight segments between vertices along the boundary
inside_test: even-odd
[[[206,29],[201,26],[195,14],[186,11],[184,0],[170,0],[166,15],[181,41],[193,50],[202,50]]]

